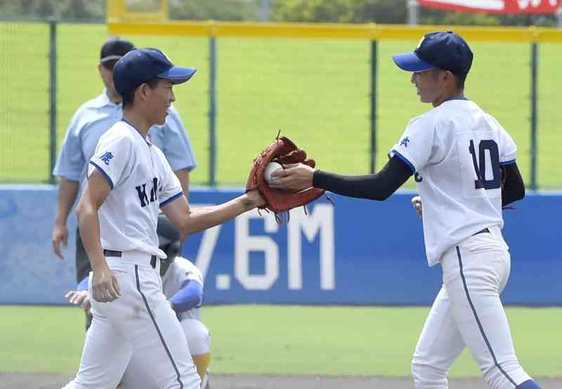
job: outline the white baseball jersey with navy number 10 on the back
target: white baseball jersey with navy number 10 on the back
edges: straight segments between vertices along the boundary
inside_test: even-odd
[[[414,171],[430,266],[466,237],[503,227],[500,166],[513,164],[516,151],[507,131],[471,100],[447,100],[407,124],[390,154]]]

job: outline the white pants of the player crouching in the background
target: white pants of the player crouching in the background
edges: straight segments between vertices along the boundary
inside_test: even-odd
[[[183,319],[180,322],[187,338],[191,355],[202,355],[211,352],[211,336],[209,330],[197,319]],[[133,355],[122,380],[122,389],[153,389],[156,382],[143,369],[142,356]]]

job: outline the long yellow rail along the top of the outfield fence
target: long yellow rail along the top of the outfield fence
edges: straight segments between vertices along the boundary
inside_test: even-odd
[[[562,42],[562,30],[542,27],[464,27],[249,22],[108,22],[110,34],[195,37],[268,37],[309,39],[414,39],[427,32],[454,29],[469,41]]]

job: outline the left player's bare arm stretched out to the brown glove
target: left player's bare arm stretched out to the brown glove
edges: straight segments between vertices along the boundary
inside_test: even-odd
[[[229,202],[191,210],[185,196],[180,196],[162,207],[171,223],[180,230],[182,239],[188,235],[226,223],[241,213],[265,204],[257,190],[251,190]]]

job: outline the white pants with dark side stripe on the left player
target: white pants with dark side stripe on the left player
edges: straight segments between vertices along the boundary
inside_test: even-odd
[[[67,388],[115,389],[133,356],[155,388],[200,388],[183,329],[162,294],[159,261],[153,269],[150,255],[138,251],[106,260],[121,296],[111,303],[91,300],[93,322]]]

